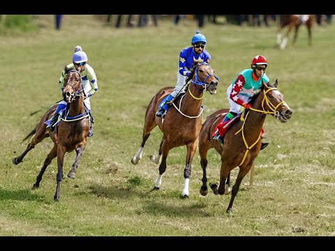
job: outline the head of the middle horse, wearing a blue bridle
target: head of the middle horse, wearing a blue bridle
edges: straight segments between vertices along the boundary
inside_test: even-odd
[[[200,91],[209,91],[209,93],[216,93],[216,86],[220,79],[214,75],[214,70],[208,63],[200,63],[195,69],[195,74],[191,80]]]

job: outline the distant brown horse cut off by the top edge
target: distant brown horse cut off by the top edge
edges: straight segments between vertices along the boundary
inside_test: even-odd
[[[281,48],[281,50],[285,49],[292,29],[295,29],[295,35],[293,37],[292,45],[295,45],[299,27],[302,24],[306,25],[308,31],[308,45],[312,45],[312,27],[315,22],[315,15],[280,15],[279,18],[280,20],[279,28],[277,31],[277,45]],[[288,30],[286,31],[285,36],[282,38],[281,32],[283,31],[285,26],[288,26]]]

